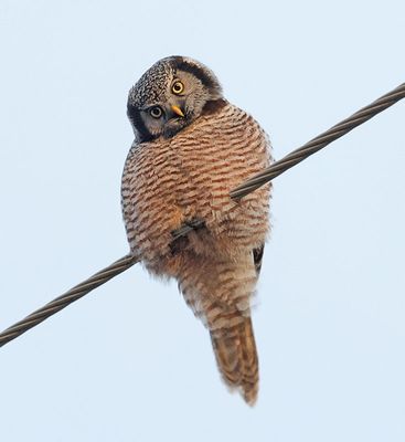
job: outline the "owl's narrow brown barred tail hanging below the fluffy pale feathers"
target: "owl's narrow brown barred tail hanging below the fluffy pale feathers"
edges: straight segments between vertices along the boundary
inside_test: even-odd
[[[228,328],[210,330],[216,362],[225,383],[241,391],[253,406],[258,391],[258,358],[249,316],[234,313],[236,323]]]

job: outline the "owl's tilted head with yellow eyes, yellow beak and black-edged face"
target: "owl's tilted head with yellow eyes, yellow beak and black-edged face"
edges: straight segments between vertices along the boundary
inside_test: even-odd
[[[171,137],[222,101],[214,73],[195,60],[169,56],[132,86],[128,117],[139,143]]]

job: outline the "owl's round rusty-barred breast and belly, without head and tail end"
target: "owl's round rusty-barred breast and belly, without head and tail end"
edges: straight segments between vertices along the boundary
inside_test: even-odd
[[[169,254],[171,232],[193,219],[205,222],[214,241],[222,235],[263,242],[269,187],[241,202],[232,201],[230,191],[268,162],[265,133],[232,105],[200,117],[172,138],[134,147],[122,176],[122,210],[131,249],[147,261]],[[235,241],[227,245],[237,246]]]

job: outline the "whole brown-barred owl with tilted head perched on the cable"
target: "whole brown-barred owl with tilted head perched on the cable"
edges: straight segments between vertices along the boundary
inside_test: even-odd
[[[271,161],[265,131],[228,103],[214,73],[185,56],[153,64],[132,86],[135,133],[121,183],[131,253],[175,278],[210,332],[219,370],[248,404],[258,391],[251,303],[269,232],[267,185],[230,191]],[[188,235],[175,234],[195,227]]]

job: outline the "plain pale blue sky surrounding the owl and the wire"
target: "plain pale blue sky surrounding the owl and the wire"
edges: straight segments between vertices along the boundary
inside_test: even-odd
[[[0,328],[128,251],[127,92],[207,64],[277,159],[405,81],[391,1],[0,0]],[[274,181],[255,408],[139,265],[0,349],[0,440],[404,441],[405,101]]]

